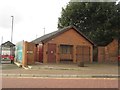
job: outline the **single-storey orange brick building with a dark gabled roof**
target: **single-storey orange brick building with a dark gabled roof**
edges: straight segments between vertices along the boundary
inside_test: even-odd
[[[74,26],[46,34],[32,41],[36,44],[36,61],[60,63],[62,61],[93,61],[93,45]]]

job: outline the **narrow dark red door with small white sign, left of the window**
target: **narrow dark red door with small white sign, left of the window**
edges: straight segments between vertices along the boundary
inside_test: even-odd
[[[56,44],[53,43],[48,44],[48,62],[50,63],[56,62]]]

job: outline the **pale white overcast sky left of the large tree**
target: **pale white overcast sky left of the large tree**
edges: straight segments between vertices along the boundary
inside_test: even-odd
[[[0,0],[0,42],[32,41],[56,31],[62,7],[70,0]],[[3,37],[3,39],[2,39]]]

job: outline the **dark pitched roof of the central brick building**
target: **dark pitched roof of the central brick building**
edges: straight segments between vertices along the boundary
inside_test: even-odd
[[[46,41],[51,40],[52,38],[54,38],[54,37],[56,37],[56,36],[64,33],[65,31],[67,31],[67,30],[69,30],[69,29],[74,29],[74,30],[76,30],[81,36],[83,36],[87,41],[89,41],[92,45],[94,45],[94,43],[93,43],[90,39],[88,39],[83,33],[81,33],[80,31],[78,31],[75,26],[68,26],[68,27],[65,27],[65,28],[63,28],[63,29],[54,31],[54,32],[52,32],[52,33],[43,35],[42,37],[39,37],[39,38],[33,40],[32,42],[35,43],[35,44],[39,44],[39,43],[41,43],[41,42],[42,42],[42,43],[45,43]]]

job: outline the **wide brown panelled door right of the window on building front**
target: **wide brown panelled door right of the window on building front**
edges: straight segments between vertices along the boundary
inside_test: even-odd
[[[76,47],[76,60],[77,62],[89,62],[90,61],[90,47],[89,46],[77,46]]]

